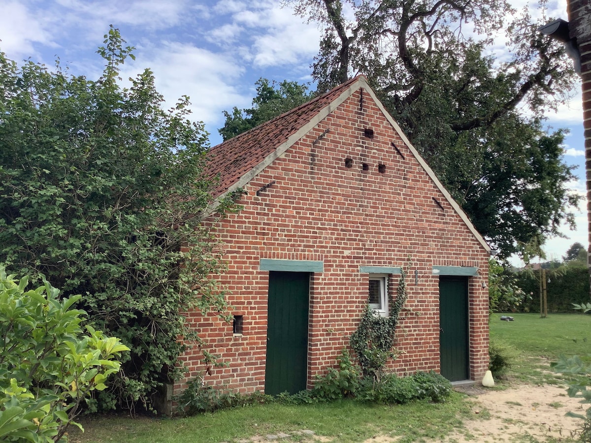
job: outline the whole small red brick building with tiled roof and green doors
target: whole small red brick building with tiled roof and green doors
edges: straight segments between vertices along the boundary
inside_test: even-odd
[[[489,246],[365,77],[210,153],[217,194],[244,191],[243,209],[217,229],[228,271],[216,278],[234,321],[189,315],[228,366],[206,371],[191,350],[188,379],[271,394],[311,387],[348,346],[368,294],[388,315],[402,266],[408,301],[391,369],[482,379]]]

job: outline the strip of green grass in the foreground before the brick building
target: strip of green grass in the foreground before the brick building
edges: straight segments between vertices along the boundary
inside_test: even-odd
[[[359,442],[375,435],[403,435],[400,442],[440,439],[461,426],[469,413],[462,395],[446,403],[416,402],[405,406],[362,405],[353,400],[281,406],[262,405],[218,411],[191,418],[156,419],[102,416],[85,422],[84,442],[222,442],[253,435],[311,429],[335,442]],[[298,441],[296,437],[290,441]]]

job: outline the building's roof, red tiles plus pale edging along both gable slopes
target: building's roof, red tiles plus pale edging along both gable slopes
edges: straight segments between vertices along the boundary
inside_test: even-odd
[[[245,187],[259,172],[264,170],[272,161],[280,157],[290,146],[306,135],[321,120],[336,110],[346,99],[357,90],[363,89],[367,92],[376,105],[384,113],[385,118],[398,132],[402,141],[413,152],[415,158],[433,180],[433,183],[446,197],[453,209],[466,223],[468,229],[476,239],[490,253],[491,247],[486,240],[473,226],[466,213],[457,204],[446,188],[441,184],[439,178],[423,157],[414,148],[407,136],[402,132],[398,123],[389,115],[384,105],[375,96],[374,90],[368,84],[363,75],[359,75],[348,82],[340,84],[335,89],[324,95],[316,97],[304,105],[285,112],[262,125],[256,126],[249,131],[241,133],[219,145],[213,146],[208,153],[206,174],[210,178],[218,178],[217,186],[213,190],[213,197],[217,200],[210,206],[206,213],[215,210],[217,202],[226,194]]]

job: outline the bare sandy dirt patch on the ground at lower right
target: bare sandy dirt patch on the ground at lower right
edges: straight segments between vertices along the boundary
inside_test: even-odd
[[[580,419],[565,416],[569,411],[583,413],[583,405],[569,398],[564,387],[486,390],[468,400],[473,419],[445,442],[565,441],[581,425]]]

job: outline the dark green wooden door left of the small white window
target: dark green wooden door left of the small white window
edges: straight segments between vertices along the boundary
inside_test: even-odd
[[[309,272],[269,272],[265,393],[306,389]]]

